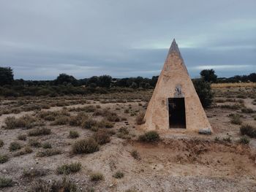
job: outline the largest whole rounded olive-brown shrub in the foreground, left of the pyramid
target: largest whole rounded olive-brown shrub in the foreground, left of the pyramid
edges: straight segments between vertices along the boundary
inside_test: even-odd
[[[94,153],[99,150],[98,143],[92,139],[80,139],[72,145],[73,153]]]

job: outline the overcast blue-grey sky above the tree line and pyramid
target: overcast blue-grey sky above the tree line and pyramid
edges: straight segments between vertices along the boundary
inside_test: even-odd
[[[176,39],[191,77],[256,72],[255,0],[0,0],[0,66],[15,78],[151,77]]]

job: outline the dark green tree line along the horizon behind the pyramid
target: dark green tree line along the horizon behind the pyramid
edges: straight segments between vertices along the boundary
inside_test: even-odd
[[[218,78],[214,69],[204,69],[200,72],[200,77],[206,82],[256,82],[256,73],[249,75],[235,75],[233,77]],[[23,85],[23,86],[42,86],[42,85],[73,85],[86,86],[89,88],[154,88],[157,84],[158,76],[146,77],[126,77],[113,78],[110,75],[93,76],[77,80],[69,74],[59,74],[55,80],[14,80],[13,70],[10,67],[0,67],[0,86],[4,85]]]

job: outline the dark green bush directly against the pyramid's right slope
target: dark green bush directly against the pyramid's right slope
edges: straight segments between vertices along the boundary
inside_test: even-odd
[[[193,80],[193,83],[203,107],[210,107],[214,96],[211,91],[211,83],[203,79]]]

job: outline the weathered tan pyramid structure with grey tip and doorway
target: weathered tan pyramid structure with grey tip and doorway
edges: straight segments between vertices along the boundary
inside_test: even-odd
[[[147,130],[212,131],[175,39],[144,120]]]

